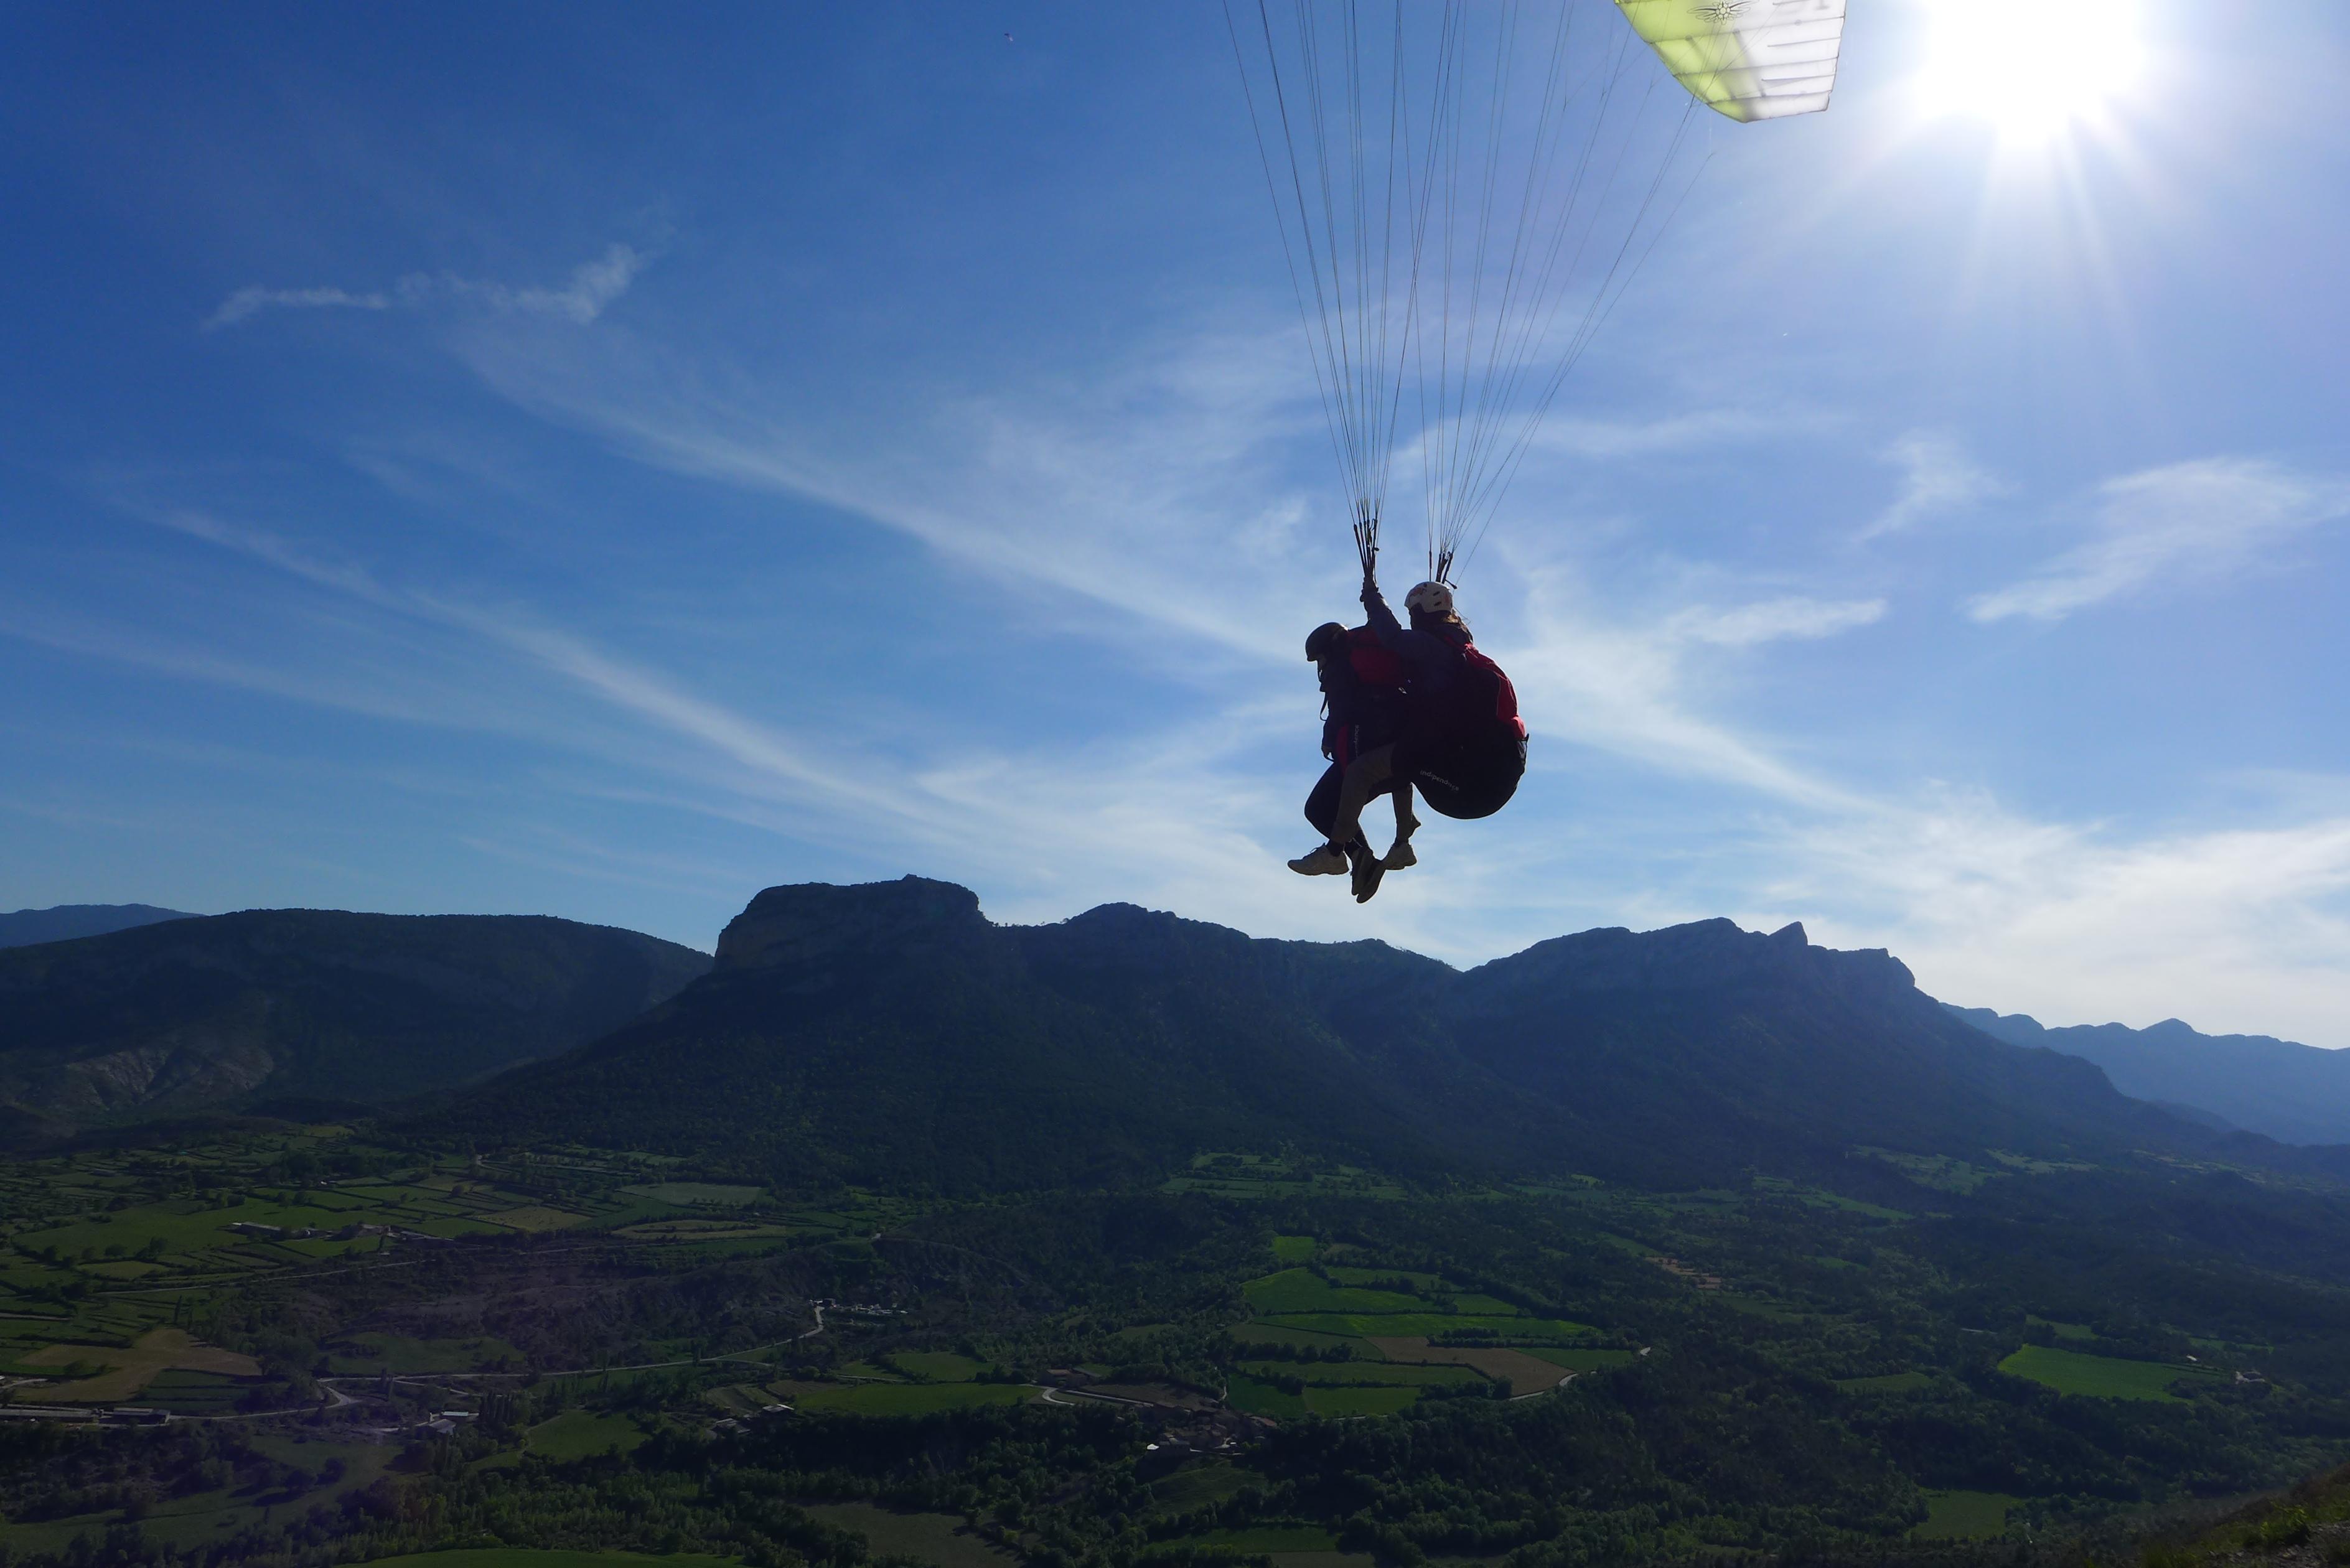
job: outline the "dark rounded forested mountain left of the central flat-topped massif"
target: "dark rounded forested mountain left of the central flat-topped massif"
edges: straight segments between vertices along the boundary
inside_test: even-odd
[[[569,1051],[710,969],[522,914],[247,910],[0,952],[0,1138],[385,1103]]]

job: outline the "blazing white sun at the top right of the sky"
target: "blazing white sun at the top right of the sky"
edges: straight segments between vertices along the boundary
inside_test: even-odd
[[[1922,108],[2044,143],[2138,78],[2138,0],[1932,0]]]

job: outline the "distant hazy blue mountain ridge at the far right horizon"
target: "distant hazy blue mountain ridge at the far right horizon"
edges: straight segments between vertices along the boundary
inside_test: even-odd
[[[2042,1027],[2023,1013],[1950,1009],[2014,1046],[2047,1046],[2096,1063],[2141,1100],[2190,1107],[2277,1143],[2350,1143],[2350,1051],[2268,1034],[2202,1034],[2176,1018],[2146,1030],[2120,1023]]]

